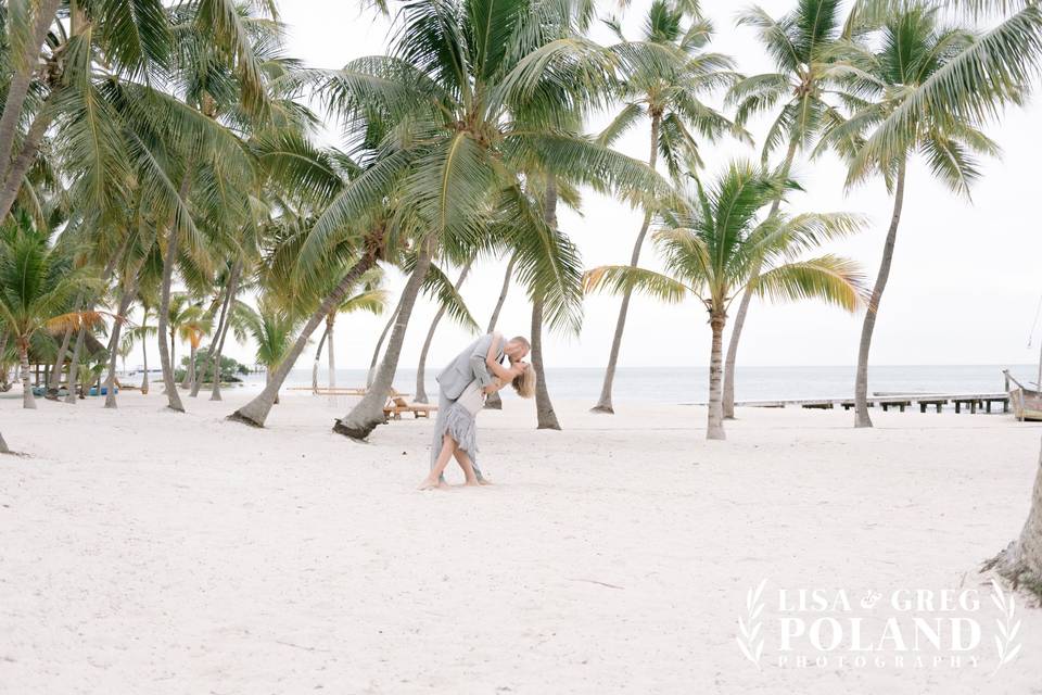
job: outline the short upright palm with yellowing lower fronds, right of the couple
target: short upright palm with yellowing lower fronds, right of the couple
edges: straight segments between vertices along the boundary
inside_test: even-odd
[[[721,379],[727,308],[746,288],[774,300],[821,299],[847,311],[862,305],[863,279],[851,261],[833,255],[801,260],[818,243],[857,230],[855,215],[760,213],[792,182],[746,162],[734,162],[710,189],[696,184],[686,204],[665,214],[655,235],[665,273],[602,266],[586,275],[587,291],[640,290],[668,302],[697,299],[709,313],[707,438],[725,439]],[[757,268],[762,271],[753,275]]]

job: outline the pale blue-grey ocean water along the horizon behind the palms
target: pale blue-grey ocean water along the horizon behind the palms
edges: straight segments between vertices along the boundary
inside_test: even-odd
[[[440,368],[440,367],[439,367]],[[869,392],[900,393],[990,393],[1002,392],[1004,365],[880,366],[868,370]],[[1008,366],[1021,383],[1033,383],[1038,365]],[[427,392],[437,392],[436,369],[425,375]],[[602,368],[547,369],[550,396],[589,401],[600,394]],[[250,380],[263,380],[252,376]],[[289,386],[310,386],[310,369],[294,369]],[[336,386],[360,387],[365,369],[338,369]],[[319,370],[319,384],[326,386],[326,370]],[[398,369],[395,389],[416,392],[416,368]],[[704,367],[622,367],[615,374],[614,401],[655,401],[691,403],[707,400],[709,370]],[[854,392],[854,367],[738,367],[735,394],[739,401],[788,399],[847,399]]]

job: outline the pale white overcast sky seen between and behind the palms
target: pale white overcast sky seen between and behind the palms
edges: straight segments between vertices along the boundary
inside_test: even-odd
[[[735,11],[744,3],[703,0],[702,4],[716,27],[713,50],[732,55],[746,74],[771,70],[754,34],[735,27]],[[760,4],[778,16],[795,0],[763,0]],[[309,66],[339,67],[354,58],[386,52],[387,23],[360,12],[355,2],[282,0],[280,7],[289,25],[290,53]],[[624,15],[628,36],[638,36],[645,9],[645,2],[635,1]],[[600,29],[595,38],[612,40]],[[588,129],[596,131],[609,116],[592,122]],[[932,181],[922,162],[910,167],[897,255],[876,325],[872,364],[1022,364],[1038,358],[1042,327],[1035,329],[1035,348],[1028,349],[1027,343],[1042,296],[1042,230],[1038,222],[1042,197],[1040,123],[1042,108],[1032,103],[1008,112],[1001,124],[987,128],[1004,154],[1001,160],[983,163],[983,176],[974,189],[973,203]],[[645,159],[648,125],[633,130],[619,147]],[[732,157],[759,156],[758,152],[726,140],[707,146],[707,168],[716,172]],[[857,260],[875,278],[891,211],[884,185],[873,181],[846,191],[844,169],[830,157],[802,162],[796,175],[806,192],[793,198],[795,207],[869,216],[868,230],[830,250]],[[626,263],[640,215],[594,193],[586,194],[582,212],[582,216],[563,212],[560,224],[579,244],[586,267]],[[641,265],[658,267],[650,244],[645,248]],[[503,262],[481,263],[462,288],[480,324],[485,324],[492,312],[504,267]],[[391,289],[396,294],[403,279],[397,274],[392,277]],[[547,365],[602,366],[618,307],[615,298],[588,298],[581,336],[546,338]],[[403,367],[416,366],[433,313],[430,302],[417,304],[402,353]],[[336,332],[338,366],[368,366],[385,320],[386,317],[342,317]],[[660,305],[635,298],[620,364],[706,366],[710,339],[706,320],[704,311],[694,302]],[[499,326],[505,333],[529,333],[530,307],[520,289],[507,301]],[[856,361],[860,330],[861,316],[849,316],[835,308],[810,303],[754,303],[746,325],[740,362],[758,366],[851,365]],[[443,321],[429,364],[437,366],[448,361],[468,340],[468,333]],[[244,362],[252,362],[250,346],[239,346],[233,352]],[[308,351],[298,366],[310,359]]]

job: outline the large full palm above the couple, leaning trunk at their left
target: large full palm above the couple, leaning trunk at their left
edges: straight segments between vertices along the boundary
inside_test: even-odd
[[[549,230],[523,190],[528,172],[547,170],[599,190],[624,189],[633,202],[661,193],[647,166],[570,134],[588,96],[607,93],[612,56],[572,31],[570,2],[421,0],[399,14],[391,56],[348,63],[322,92],[360,140],[385,124],[370,147],[374,164],[348,185],[316,224],[303,263],[353,218],[393,200],[415,244],[387,350],[366,396],[334,430],[365,439],[384,421],[416,296],[443,245],[487,241],[490,219],[511,219],[519,264],[546,296],[551,320],[577,320],[581,291],[563,278],[577,268],[547,245]]]

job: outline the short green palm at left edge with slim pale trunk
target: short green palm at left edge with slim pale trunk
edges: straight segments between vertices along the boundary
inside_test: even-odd
[[[68,250],[51,245],[49,237],[25,214],[0,227],[0,320],[18,351],[26,408],[36,407],[29,384],[33,337],[45,327],[78,329],[100,320],[93,312],[71,311],[73,298],[93,283],[73,268]]]

